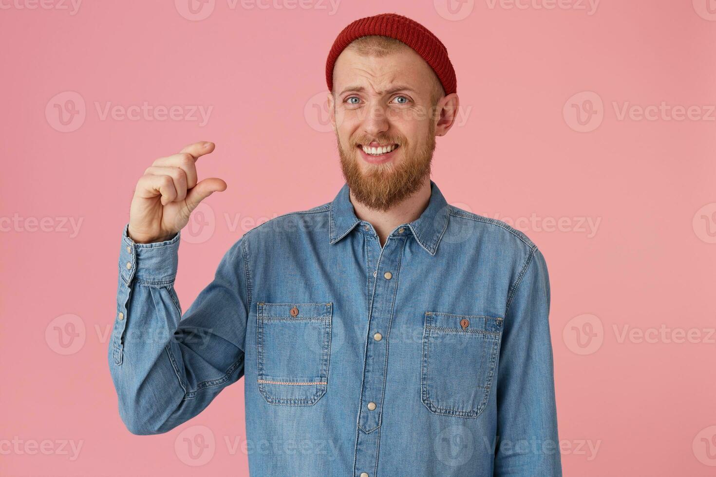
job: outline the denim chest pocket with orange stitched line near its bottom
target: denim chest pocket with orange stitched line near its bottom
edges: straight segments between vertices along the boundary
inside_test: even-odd
[[[332,303],[257,306],[258,392],[271,404],[315,404],[328,388]]]

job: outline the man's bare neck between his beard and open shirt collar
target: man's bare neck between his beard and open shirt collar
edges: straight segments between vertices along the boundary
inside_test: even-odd
[[[390,232],[400,224],[405,224],[417,220],[418,217],[425,211],[428,203],[430,202],[430,177],[425,176],[425,180],[422,183],[417,192],[408,197],[400,204],[392,207],[390,210],[374,210],[358,202],[353,197],[353,192],[350,192],[350,199],[355,211],[356,217],[360,220],[369,222],[378,234],[380,240],[380,246],[382,247],[387,240]]]

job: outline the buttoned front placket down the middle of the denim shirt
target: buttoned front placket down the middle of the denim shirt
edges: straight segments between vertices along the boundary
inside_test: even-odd
[[[368,227],[369,230],[369,227]],[[373,272],[372,297],[369,302],[369,319],[363,363],[360,408],[357,419],[357,440],[354,459],[354,476],[375,476],[378,463],[380,424],[387,372],[388,337],[392,322],[400,259],[406,237],[388,237],[380,248],[376,236],[369,242],[367,263],[376,263]]]

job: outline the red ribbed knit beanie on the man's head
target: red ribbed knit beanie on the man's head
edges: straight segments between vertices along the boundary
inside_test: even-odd
[[[354,39],[368,35],[390,36],[407,44],[422,56],[437,74],[445,94],[457,92],[458,81],[455,79],[455,69],[450,63],[445,45],[425,26],[398,14],[367,16],[354,21],[341,31],[333,42],[326,61],[326,83],[329,91],[333,91],[333,67],[339,54]]]

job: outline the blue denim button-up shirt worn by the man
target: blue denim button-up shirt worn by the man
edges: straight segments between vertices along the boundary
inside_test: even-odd
[[[122,234],[119,413],[165,433],[245,378],[252,476],[561,476],[545,259],[449,205],[381,247],[344,185],[246,232],[181,312],[180,232]]]

